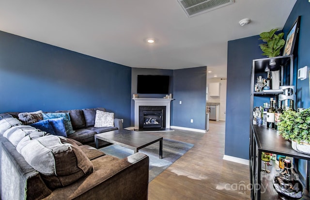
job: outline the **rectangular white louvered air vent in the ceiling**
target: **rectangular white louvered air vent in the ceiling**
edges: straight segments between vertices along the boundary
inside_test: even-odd
[[[178,0],[188,17],[229,5],[233,0]]]

